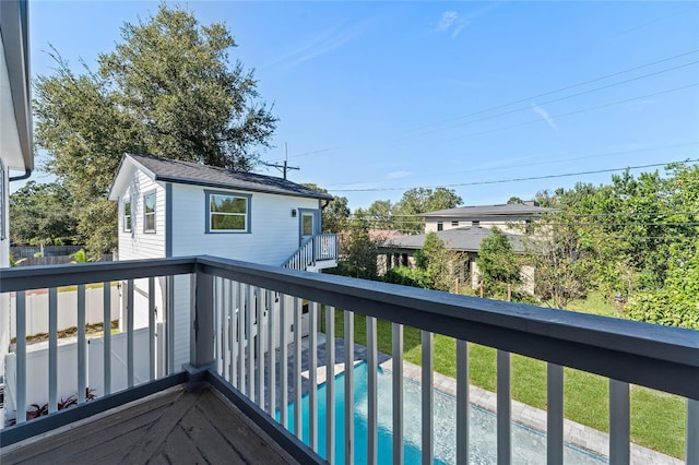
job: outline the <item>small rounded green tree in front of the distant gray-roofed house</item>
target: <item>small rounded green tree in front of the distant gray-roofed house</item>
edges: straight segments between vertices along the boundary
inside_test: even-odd
[[[520,283],[520,260],[508,236],[497,227],[490,236],[483,239],[476,259],[483,286],[488,295],[502,297],[507,295],[508,285]]]

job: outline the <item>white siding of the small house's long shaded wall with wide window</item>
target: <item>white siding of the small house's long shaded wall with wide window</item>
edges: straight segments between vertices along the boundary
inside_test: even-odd
[[[173,184],[173,257],[215,255],[280,266],[298,249],[300,214],[318,210],[318,200],[260,192],[212,189],[251,194],[250,233],[206,234],[205,188]]]

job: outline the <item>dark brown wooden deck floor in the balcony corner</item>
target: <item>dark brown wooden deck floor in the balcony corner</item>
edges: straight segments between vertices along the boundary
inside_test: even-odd
[[[174,388],[68,428],[2,450],[0,463],[296,463],[212,389]]]

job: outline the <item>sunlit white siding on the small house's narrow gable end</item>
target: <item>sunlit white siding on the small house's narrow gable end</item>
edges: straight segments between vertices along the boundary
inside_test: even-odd
[[[165,187],[137,170],[119,198],[119,260],[165,257]],[[143,231],[143,195],[155,191],[155,233]],[[123,230],[123,203],[131,200],[131,233]]]

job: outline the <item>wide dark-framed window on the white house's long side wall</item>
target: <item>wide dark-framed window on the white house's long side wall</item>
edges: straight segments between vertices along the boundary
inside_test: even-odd
[[[249,233],[250,195],[206,191],[206,233]]]

